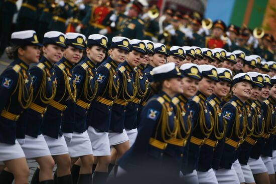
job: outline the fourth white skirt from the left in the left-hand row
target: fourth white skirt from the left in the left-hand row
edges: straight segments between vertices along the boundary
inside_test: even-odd
[[[71,142],[66,142],[70,157],[79,157],[93,154],[91,142],[87,131],[83,133],[73,132]]]

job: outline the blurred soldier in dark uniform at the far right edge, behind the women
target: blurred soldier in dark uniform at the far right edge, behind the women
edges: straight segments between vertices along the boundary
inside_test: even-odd
[[[254,50],[254,54],[261,56],[265,61],[273,61],[274,52],[270,49],[274,38],[271,34],[264,34],[262,44]]]

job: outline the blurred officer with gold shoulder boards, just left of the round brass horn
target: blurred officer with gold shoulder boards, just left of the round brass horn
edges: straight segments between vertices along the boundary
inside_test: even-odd
[[[128,11],[128,19],[125,20],[124,27],[115,34],[129,39],[144,40],[144,21],[138,18],[142,12],[143,5],[137,0],[133,1]]]

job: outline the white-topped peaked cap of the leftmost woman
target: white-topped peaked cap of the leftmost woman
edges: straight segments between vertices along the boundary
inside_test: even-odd
[[[38,42],[37,34],[34,30],[19,31],[12,33],[11,44],[14,46],[42,46],[42,44]]]

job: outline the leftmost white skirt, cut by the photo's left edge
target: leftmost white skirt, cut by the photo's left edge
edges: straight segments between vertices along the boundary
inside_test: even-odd
[[[16,140],[16,144],[6,144],[0,142],[0,164],[3,161],[25,157],[24,151]]]

